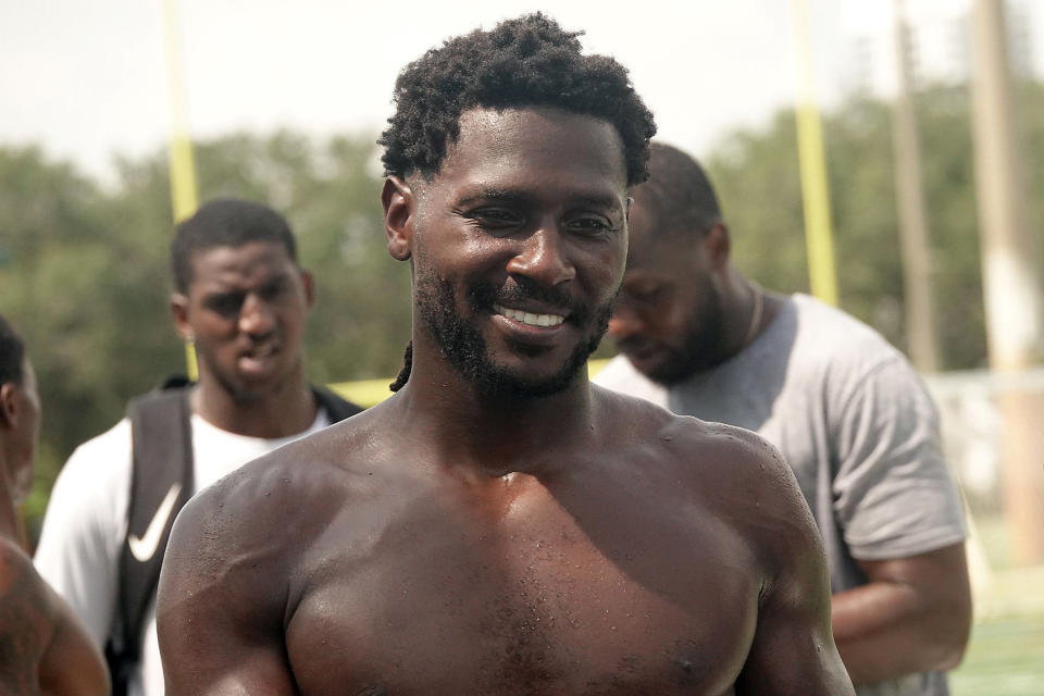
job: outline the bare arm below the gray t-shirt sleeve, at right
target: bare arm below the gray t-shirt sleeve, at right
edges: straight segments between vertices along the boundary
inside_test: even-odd
[[[852,681],[955,668],[971,629],[964,545],[859,566],[870,582],[833,597],[834,639]]]

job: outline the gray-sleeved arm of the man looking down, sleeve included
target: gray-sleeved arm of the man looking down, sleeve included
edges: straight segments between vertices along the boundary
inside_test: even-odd
[[[834,639],[853,682],[956,667],[971,598],[962,507],[934,406],[895,357],[852,389],[841,413],[834,514],[868,580],[833,599]]]

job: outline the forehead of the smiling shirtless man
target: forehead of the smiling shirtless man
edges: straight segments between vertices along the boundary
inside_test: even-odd
[[[434,186],[532,187],[622,200],[623,141],[610,123],[558,109],[472,109],[460,117]]]

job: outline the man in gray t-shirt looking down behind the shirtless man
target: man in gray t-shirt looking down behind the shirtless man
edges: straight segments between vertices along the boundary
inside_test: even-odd
[[[960,496],[924,386],[870,327],[736,272],[692,158],[656,144],[649,171],[609,330],[624,355],[595,382],[774,444],[822,533],[858,694],[947,694],[971,600]]]

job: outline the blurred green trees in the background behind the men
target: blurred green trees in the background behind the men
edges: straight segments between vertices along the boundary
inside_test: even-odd
[[[1018,99],[1030,223],[1044,223],[1044,87]],[[984,364],[969,100],[917,97],[933,259],[935,328],[947,370]],[[824,117],[842,306],[905,346],[903,274],[887,104],[854,100]],[[200,197],[270,203],[316,277],[306,333],[316,382],[390,376],[409,338],[409,273],[387,254],[373,137],[291,132],[197,142]],[[1036,154],[1035,157],[1033,154]],[[807,291],[793,113],[737,132],[706,160],[737,265],[766,287]],[[171,206],[165,154],[120,160],[102,187],[36,148],[0,147],[0,313],[25,336],[45,423],[30,524],[61,462],[121,417],[126,399],[184,370],[166,297]],[[611,352],[611,348],[600,351]]]

